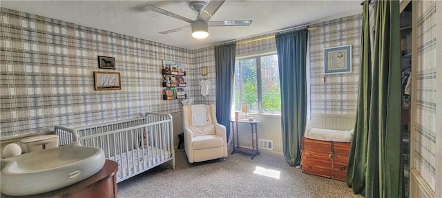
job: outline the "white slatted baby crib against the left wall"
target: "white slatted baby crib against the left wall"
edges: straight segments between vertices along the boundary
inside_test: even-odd
[[[55,126],[59,144],[79,141],[102,148],[106,159],[118,163],[117,182],[171,161],[175,169],[173,123],[169,113],[146,113],[144,117],[105,122],[70,129]],[[148,134],[148,135],[146,135]],[[148,136],[143,141],[143,135]]]

